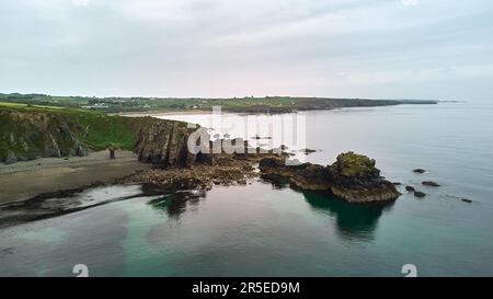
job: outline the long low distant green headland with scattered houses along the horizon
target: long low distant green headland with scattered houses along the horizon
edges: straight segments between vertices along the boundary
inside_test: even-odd
[[[1,94],[0,101],[31,105],[85,108],[107,113],[210,111],[221,106],[223,111],[238,113],[286,113],[339,107],[386,106],[399,104],[436,104],[436,101],[366,100],[333,97],[232,97],[232,99],[175,99],[175,97],[89,97],[54,96],[45,94]]]

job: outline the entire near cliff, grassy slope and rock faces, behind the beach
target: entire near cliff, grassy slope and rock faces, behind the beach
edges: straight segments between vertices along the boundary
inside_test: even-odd
[[[108,146],[136,150],[145,162],[186,161],[185,123],[48,106],[0,105],[0,162],[84,156]]]

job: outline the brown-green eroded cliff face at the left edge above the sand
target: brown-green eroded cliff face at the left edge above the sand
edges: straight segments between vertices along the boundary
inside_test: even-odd
[[[0,162],[87,153],[84,127],[57,114],[0,111]]]

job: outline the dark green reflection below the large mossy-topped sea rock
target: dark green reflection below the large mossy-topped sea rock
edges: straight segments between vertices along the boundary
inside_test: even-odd
[[[345,239],[374,239],[378,219],[393,205],[354,205],[314,192],[303,192],[303,196],[317,212],[335,217],[337,232]]]

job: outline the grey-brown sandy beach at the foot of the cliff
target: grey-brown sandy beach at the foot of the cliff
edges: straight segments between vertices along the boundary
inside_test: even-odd
[[[69,159],[41,158],[0,163],[0,205],[25,200],[42,193],[108,182],[149,168],[149,164],[138,162],[137,156],[130,151],[117,151],[116,159],[110,159],[107,151],[98,151]]]

